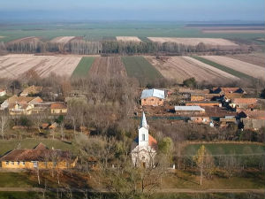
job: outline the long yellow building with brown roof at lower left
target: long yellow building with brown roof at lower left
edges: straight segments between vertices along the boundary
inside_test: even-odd
[[[68,169],[73,168],[74,160],[69,151],[48,149],[40,143],[34,149],[13,149],[0,158],[3,169]]]

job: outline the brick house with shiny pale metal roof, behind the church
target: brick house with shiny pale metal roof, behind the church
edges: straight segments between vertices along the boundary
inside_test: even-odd
[[[142,106],[162,106],[164,100],[164,90],[159,90],[155,88],[143,90],[140,96]]]

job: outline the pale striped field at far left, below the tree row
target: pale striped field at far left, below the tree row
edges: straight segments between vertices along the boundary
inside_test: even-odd
[[[49,73],[71,76],[80,59],[79,56],[6,55],[0,57],[0,76],[18,78],[31,69],[41,77]]]

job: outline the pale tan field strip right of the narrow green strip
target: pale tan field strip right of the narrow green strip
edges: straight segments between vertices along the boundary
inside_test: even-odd
[[[201,56],[206,58],[212,62],[216,62],[220,65],[225,65],[232,70],[238,71],[239,73],[245,73],[246,75],[250,75],[254,78],[261,78],[265,80],[265,68],[259,65],[249,64],[238,59],[234,59],[231,57],[223,57],[223,56]]]

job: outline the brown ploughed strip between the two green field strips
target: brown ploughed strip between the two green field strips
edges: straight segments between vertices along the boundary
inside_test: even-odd
[[[89,75],[104,78],[126,76],[125,65],[120,57],[96,57]]]

